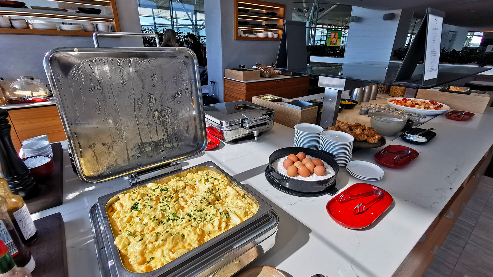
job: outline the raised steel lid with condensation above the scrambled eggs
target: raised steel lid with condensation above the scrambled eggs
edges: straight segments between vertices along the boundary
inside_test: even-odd
[[[197,58],[188,48],[57,48],[44,68],[87,182],[157,170],[207,146]]]

